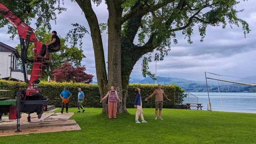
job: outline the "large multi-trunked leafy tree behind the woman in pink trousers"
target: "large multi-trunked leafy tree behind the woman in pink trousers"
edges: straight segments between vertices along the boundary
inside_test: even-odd
[[[3,0],[3,3],[11,6],[10,9],[14,12],[23,12],[25,15],[22,17],[26,20],[35,17],[39,17],[39,20],[55,20],[56,15],[50,15],[50,12],[65,10],[60,5],[55,5],[60,1],[21,0],[17,3],[17,1]],[[239,0],[105,0],[109,15],[107,24],[99,24],[92,8],[92,3],[98,6],[102,0],[72,1],[76,2],[84,12],[90,32],[79,24],[73,24],[76,28],[70,31],[68,38],[72,38],[73,44],[77,44],[84,33],[90,33],[101,96],[107,92],[109,86],[115,86],[122,100],[118,106],[119,113],[126,112],[126,90],[136,62],[144,56],[143,75],[154,77],[148,71],[148,61],[151,56],[147,54],[157,49],[155,60],[163,60],[171,44],[177,43],[175,32],[182,31],[187,41],[192,43],[191,36],[196,26],[202,37],[201,41],[206,35],[207,26],[225,28],[227,24],[230,26],[240,24],[244,35],[250,31],[248,24],[237,17],[237,14],[242,12],[236,9]],[[5,21],[4,24],[6,23]],[[37,24],[49,26],[49,23]],[[101,36],[103,28],[108,29],[108,72]],[[138,44],[134,44],[136,38]],[[104,103],[103,112],[107,112]]]

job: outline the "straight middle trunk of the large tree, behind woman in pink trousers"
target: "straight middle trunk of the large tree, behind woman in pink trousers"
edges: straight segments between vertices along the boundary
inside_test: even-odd
[[[122,9],[119,0],[106,0],[108,5],[108,87],[114,86],[119,99],[117,113],[123,112],[121,77],[121,28]]]

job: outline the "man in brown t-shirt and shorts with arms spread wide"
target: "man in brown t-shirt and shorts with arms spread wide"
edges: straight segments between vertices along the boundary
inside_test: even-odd
[[[162,88],[162,85],[158,84],[158,89],[155,89],[154,92],[145,99],[145,101],[147,101],[149,98],[155,95],[155,120],[157,120],[158,109],[159,109],[159,120],[163,120],[162,118],[163,95],[166,97],[167,100],[171,101],[170,99],[168,99],[165,92],[161,88]]]

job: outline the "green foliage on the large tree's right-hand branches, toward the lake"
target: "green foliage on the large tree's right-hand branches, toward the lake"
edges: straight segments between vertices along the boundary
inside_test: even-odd
[[[138,0],[126,1],[122,7],[127,10],[126,14],[132,12],[132,7]],[[182,6],[179,6],[178,1],[172,1],[169,4],[162,6],[159,9],[153,9],[155,5],[164,3],[166,0],[149,0],[147,2],[148,9],[152,9],[146,13],[141,20],[141,27],[138,29],[138,46],[147,46],[145,43],[148,38],[152,38],[152,50],[157,49],[155,61],[163,61],[165,55],[171,50],[171,44],[177,44],[176,31],[182,31],[185,39],[189,44],[192,44],[192,35],[195,26],[198,26],[201,41],[206,35],[207,26],[222,26],[226,28],[227,24],[232,26],[242,26],[244,35],[250,32],[248,23],[238,18],[238,13],[242,10],[237,10],[238,0],[186,0]],[[125,27],[124,27],[125,29]],[[152,53],[152,50],[149,53]],[[148,62],[151,62],[151,54],[145,55],[142,62],[143,76],[151,76],[148,71]]]

